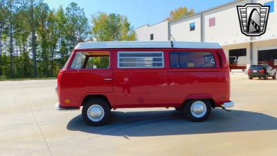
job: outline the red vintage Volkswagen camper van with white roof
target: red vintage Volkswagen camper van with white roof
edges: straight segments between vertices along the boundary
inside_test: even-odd
[[[57,110],[82,107],[89,125],[111,109],[175,107],[191,121],[233,107],[229,67],[219,44],[203,42],[79,43],[57,76]]]

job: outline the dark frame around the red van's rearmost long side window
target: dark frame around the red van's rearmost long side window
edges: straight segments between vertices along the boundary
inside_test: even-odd
[[[213,55],[213,59],[215,60],[215,67],[171,67],[171,53],[178,53],[178,64],[180,64],[180,55],[179,53],[211,53]],[[217,68],[217,60],[212,51],[169,51],[169,68],[170,69],[215,69]],[[180,65],[179,65],[180,66]]]

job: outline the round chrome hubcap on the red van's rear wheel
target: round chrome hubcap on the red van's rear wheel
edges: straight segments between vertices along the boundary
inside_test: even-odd
[[[201,118],[206,114],[207,107],[204,102],[195,101],[190,107],[190,112],[193,114],[193,116]]]

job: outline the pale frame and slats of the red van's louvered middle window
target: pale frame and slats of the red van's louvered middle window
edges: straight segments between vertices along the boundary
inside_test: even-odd
[[[120,67],[120,53],[161,53],[161,57],[152,57],[152,58],[161,58],[162,67]],[[128,58],[138,58],[138,57],[128,57]],[[118,51],[117,52],[117,68],[118,69],[162,69],[165,67],[165,59],[164,59],[164,52],[163,51]]]

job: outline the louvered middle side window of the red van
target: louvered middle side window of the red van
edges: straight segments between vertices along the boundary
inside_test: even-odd
[[[163,68],[162,51],[118,52],[118,68]]]

